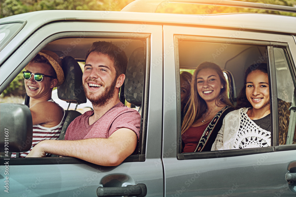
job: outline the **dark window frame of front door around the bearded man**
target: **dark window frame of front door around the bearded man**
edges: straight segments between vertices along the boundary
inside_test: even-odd
[[[29,61],[36,56],[49,43],[62,38],[79,38],[82,31],[75,32],[60,32],[53,34],[40,43],[36,43],[36,47],[28,54],[28,56],[21,61],[16,70],[22,70]],[[142,113],[141,113],[141,127],[140,139],[138,146],[139,154],[128,156],[123,162],[141,162],[146,159],[146,141],[147,141],[147,121],[148,121],[148,103],[149,103],[149,84],[150,84],[150,51],[151,51],[151,34],[150,33],[135,33],[135,32],[83,32],[84,38],[100,39],[132,39],[142,40],[144,43],[144,81],[143,81],[143,97],[142,97]],[[17,71],[16,71],[17,72]],[[11,80],[9,80],[11,79]],[[14,78],[10,76],[6,79],[11,82]],[[9,82],[9,83],[10,83]],[[8,83],[8,84],[9,84]],[[3,160],[4,158],[0,158]],[[4,162],[4,160],[3,160]],[[1,162],[2,163],[2,162]],[[10,158],[9,165],[47,165],[47,164],[90,164],[90,162],[78,159],[75,157],[45,157],[45,158]]]

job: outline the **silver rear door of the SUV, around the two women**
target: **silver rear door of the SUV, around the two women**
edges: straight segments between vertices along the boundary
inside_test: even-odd
[[[279,145],[279,128],[282,126],[279,125],[279,111],[283,108],[278,107],[278,99],[289,103],[288,108],[295,106],[296,46],[293,36],[252,32],[242,27],[176,28],[165,25],[163,32],[164,53],[167,55],[164,59],[162,156],[165,195],[295,196],[295,182],[291,178],[286,180],[286,174],[295,175],[292,173],[295,173],[296,144],[290,140],[289,144]],[[202,61],[214,62],[232,74],[230,98],[239,94],[248,66],[268,63],[271,147],[181,153],[180,69],[195,69]],[[294,134],[295,124],[290,122],[285,124]]]

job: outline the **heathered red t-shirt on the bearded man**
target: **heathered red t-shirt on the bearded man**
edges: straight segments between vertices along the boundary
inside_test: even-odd
[[[99,120],[89,125],[89,117],[93,114],[94,111],[91,110],[75,118],[67,128],[65,140],[109,138],[119,128],[131,129],[137,134],[139,140],[141,115],[136,110],[119,102]]]

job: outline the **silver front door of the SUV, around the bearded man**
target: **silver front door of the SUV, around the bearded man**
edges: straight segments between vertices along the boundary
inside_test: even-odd
[[[97,12],[91,18],[102,13]],[[25,32],[20,31],[12,42],[22,40],[30,28],[25,25],[22,29]],[[106,20],[91,22],[91,19],[87,22],[57,20],[43,25],[32,34],[28,33],[25,42],[18,43],[16,50],[1,64],[1,91],[38,51],[55,40],[66,38],[75,38],[77,45],[72,43],[66,50],[61,49],[64,55],[67,55],[67,51],[77,50],[83,39],[123,39],[120,46],[122,49],[131,46],[133,40],[144,46],[144,94],[139,153],[131,155],[115,167],[99,166],[70,157],[0,158],[0,196],[97,196],[99,187],[112,187],[115,191],[119,187],[137,184],[146,185],[147,196],[163,196],[163,166],[161,163],[158,165],[161,158],[162,117],[162,103],[159,102],[162,95],[158,92],[162,92],[162,86],[159,85],[159,81],[162,81],[162,66],[151,67],[151,62],[159,58],[158,54],[162,54],[161,25],[114,23]],[[13,131],[9,131],[9,135],[13,134]],[[3,188],[8,190],[4,191]]]

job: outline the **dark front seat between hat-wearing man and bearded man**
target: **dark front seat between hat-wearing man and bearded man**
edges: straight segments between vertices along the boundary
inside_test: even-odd
[[[65,75],[65,81],[62,85],[57,87],[57,94],[59,99],[69,103],[76,103],[75,110],[65,110],[65,122],[62,127],[59,140],[65,139],[65,133],[70,123],[79,115],[80,112],[76,111],[78,104],[86,103],[86,96],[82,85],[82,70],[78,62],[71,56],[66,56],[62,59],[62,68]],[[52,155],[51,157],[57,157]]]

